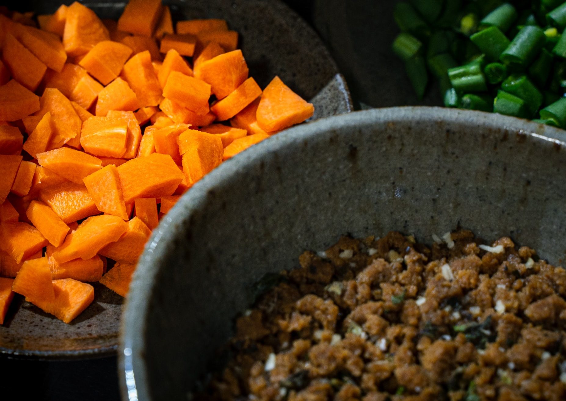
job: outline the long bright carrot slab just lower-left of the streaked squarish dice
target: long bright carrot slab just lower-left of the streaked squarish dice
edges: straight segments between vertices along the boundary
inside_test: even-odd
[[[70,148],[38,153],[37,161],[40,166],[47,167],[63,178],[80,185],[83,184],[85,176],[102,168],[100,159]]]

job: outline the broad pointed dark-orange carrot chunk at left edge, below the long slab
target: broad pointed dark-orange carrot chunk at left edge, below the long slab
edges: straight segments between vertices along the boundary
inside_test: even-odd
[[[15,121],[39,110],[39,97],[15,80],[0,87],[0,120]]]

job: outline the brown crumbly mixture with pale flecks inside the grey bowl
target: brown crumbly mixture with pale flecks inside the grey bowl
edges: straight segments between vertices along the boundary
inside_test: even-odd
[[[566,270],[506,237],[435,240],[390,232],[303,253],[267,277],[195,398],[566,400]]]

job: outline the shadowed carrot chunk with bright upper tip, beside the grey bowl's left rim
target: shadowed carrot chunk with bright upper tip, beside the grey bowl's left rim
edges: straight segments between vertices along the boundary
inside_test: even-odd
[[[119,263],[137,263],[151,230],[138,217],[128,221],[127,231],[117,242],[106,245],[98,253]]]

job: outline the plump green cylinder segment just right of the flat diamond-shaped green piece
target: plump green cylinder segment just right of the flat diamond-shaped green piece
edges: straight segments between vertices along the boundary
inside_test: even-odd
[[[508,66],[526,68],[546,43],[546,36],[539,27],[528,25],[517,33],[500,60]]]

